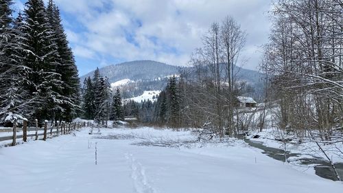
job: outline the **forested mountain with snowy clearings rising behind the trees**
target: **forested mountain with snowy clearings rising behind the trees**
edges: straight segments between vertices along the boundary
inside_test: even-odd
[[[222,65],[222,77],[225,66]],[[208,69],[209,70],[209,69]],[[152,60],[136,60],[117,65],[110,65],[99,69],[102,76],[108,78],[113,87],[119,87],[123,98],[132,98],[143,94],[143,91],[163,90],[169,78],[174,74],[185,73],[189,78],[196,78],[196,67],[176,67],[158,63]],[[94,71],[80,77],[81,82],[88,76],[93,76]],[[258,71],[234,67],[237,80],[247,82],[252,89],[252,95],[257,97],[262,90],[263,74]]]

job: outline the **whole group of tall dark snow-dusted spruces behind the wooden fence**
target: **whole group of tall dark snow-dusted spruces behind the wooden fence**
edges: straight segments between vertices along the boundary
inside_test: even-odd
[[[71,121],[80,111],[80,80],[58,7],[28,0],[14,19],[12,4],[0,1],[1,122]]]

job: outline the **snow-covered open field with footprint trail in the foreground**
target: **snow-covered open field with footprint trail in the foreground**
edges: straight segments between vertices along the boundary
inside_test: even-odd
[[[1,192],[342,192],[243,141],[191,143],[191,131],[88,128],[0,148]],[[95,144],[97,165],[95,165]],[[174,148],[167,148],[176,144]]]

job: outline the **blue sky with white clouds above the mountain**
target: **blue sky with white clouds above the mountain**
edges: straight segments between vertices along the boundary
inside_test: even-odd
[[[14,0],[23,10],[25,0]],[[233,18],[246,30],[241,54],[258,69],[267,43],[270,0],[55,0],[80,76],[131,60],[187,66],[211,23]],[[45,0],[47,3],[47,0]]]

